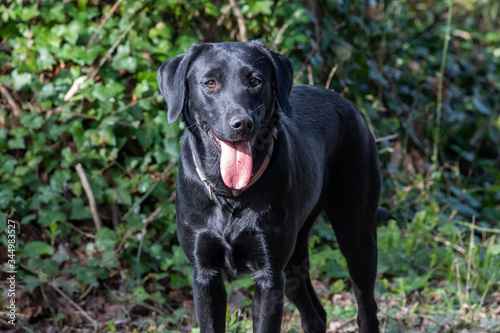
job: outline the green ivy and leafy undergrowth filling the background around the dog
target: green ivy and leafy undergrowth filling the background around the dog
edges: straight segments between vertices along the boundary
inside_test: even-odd
[[[173,205],[184,127],[167,122],[156,70],[192,43],[242,36],[222,1],[116,4],[0,5],[0,230],[7,218],[19,221],[18,320],[28,331],[95,329],[75,315],[76,303],[99,326],[106,323],[103,331],[196,331],[191,268],[176,239]],[[498,3],[454,2],[444,73],[444,0],[238,6],[247,37],[287,55],[297,83],[328,83],[356,103],[376,137],[392,135],[379,143],[381,204],[397,220],[379,229],[386,331],[498,331]],[[99,230],[78,163],[95,196]],[[4,249],[6,235],[0,244]],[[348,331],[356,307],[323,219],[311,250],[329,318]],[[249,278],[227,284],[231,331],[251,327],[251,285]],[[297,331],[297,316],[287,306],[286,330]]]

